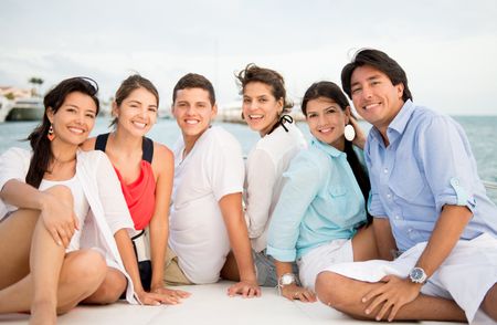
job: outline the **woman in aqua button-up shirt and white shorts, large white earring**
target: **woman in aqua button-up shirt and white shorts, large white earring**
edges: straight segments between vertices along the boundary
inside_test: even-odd
[[[341,90],[313,84],[302,112],[313,138],[283,175],[284,187],[268,230],[267,254],[276,259],[282,295],[315,302],[316,276],[326,266],[378,255],[366,211],[369,179],[353,145],[364,135]],[[353,145],[352,145],[353,144]],[[292,272],[297,261],[299,280]]]

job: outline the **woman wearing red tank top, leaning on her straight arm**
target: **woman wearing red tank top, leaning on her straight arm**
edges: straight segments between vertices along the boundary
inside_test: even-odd
[[[109,134],[91,138],[84,149],[99,149],[107,154],[119,178],[136,230],[148,227],[150,259],[141,256],[144,231],[135,238],[135,261],[129,275],[144,304],[176,304],[189,293],[163,287],[163,263],[168,239],[169,202],[172,190],[173,155],[166,146],[145,135],[157,120],[159,94],[154,84],[140,76],[126,78],[113,103]],[[142,261],[145,260],[145,261]]]

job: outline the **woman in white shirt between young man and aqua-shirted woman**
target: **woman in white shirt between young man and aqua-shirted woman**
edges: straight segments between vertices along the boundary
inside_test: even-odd
[[[271,69],[248,64],[236,76],[243,94],[242,116],[261,139],[248,154],[245,174],[245,220],[254,252],[260,285],[276,286],[274,260],[266,255],[269,219],[282,191],[282,174],[292,158],[306,147],[302,132],[288,113],[283,76]],[[234,263],[226,263],[223,275]]]

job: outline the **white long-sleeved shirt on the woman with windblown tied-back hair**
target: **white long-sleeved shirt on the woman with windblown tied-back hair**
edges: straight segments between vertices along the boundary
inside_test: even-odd
[[[266,249],[267,229],[273,210],[283,188],[283,172],[292,158],[307,147],[304,135],[295,124],[285,124],[286,132],[278,126],[261,138],[248,154],[244,201],[245,221],[252,249]]]

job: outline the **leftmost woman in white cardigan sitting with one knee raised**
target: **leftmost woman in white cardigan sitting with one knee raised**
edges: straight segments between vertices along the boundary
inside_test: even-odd
[[[119,255],[134,254],[135,233],[119,181],[103,153],[78,150],[98,114],[96,93],[89,78],[64,80],[44,97],[32,153],[0,157],[0,313],[55,324],[57,313],[115,302],[126,287],[137,303]]]

